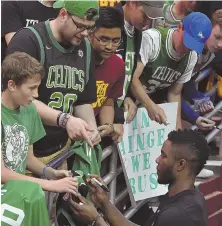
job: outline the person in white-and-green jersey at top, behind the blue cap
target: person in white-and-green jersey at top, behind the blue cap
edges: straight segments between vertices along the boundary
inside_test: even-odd
[[[171,27],[177,26],[177,24],[189,13],[193,12],[196,6],[196,1],[172,1],[167,2],[163,6],[162,19],[157,19],[155,26]]]

